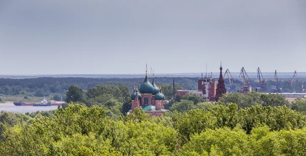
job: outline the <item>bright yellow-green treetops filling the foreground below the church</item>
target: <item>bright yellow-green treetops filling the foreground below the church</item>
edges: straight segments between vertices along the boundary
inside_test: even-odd
[[[199,104],[199,103],[198,103]],[[286,106],[234,103],[114,121],[97,106],[0,114],[2,155],[303,155],[306,118]]]

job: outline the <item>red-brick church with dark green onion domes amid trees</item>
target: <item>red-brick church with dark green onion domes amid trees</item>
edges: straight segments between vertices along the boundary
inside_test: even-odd
[[[131,94],[132,99],[132,110],[133,113],[135,108],[142,109],[145,113],[150,116],[161,116],[169,110],[164,109],[165,95],[162,93],[161,87],[158,87],[154,83],[154,74],[152,83],[148,81],[147,70],[145,71],[145,79],[141,84],[139,91],[138,87],[134,87],[134,92]]]

